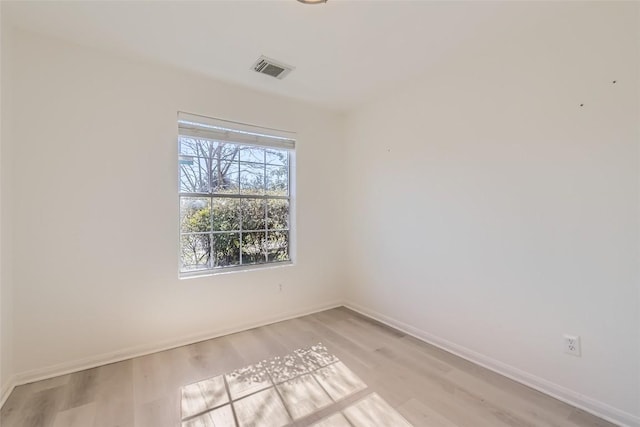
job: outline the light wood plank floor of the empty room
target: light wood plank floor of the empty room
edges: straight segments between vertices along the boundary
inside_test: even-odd
[[[318,425],[398,427],[401,418],[393,418],[395,414],[391,413],[395,412],[413,426],[429,427],[612,425],[345,308],[17,387],[2,408],[0,424],[180,426],[185,411],[183,387],[213,378],[201,384],[220,385],[222,397],[216,398],[228,403],[227,394],[235,387],[231,383],[234,375],[244,372],[239,369],[265,359],[282,360],[274,358],[318,343],[336,357],[329,361],[334,364],[324,370],[333,370],[334,374],[342,370],[341,377],[334,378],[343,381],[351,375],[351,388],[327,383],[331,377],[326,377],[323,384],[317,371],[304,376],[304,381],[300,377],[291,386],[304,388],[306,384],[320,390],[322,396],[314,395],[311,406],[308,399],[300,397],[300,393],[311,395],[311,388],[287,396],[292,388],[281,384],[250,396],[253,401],[262,399],[266,409],[247,398],[221,406],[215,412],[219,417],[214,419],[211,415],[208,423],[187,417],[183,425],[218,426],[214,421],[227,417],[231,425],[234,420],[244,419],[245,425],[261,426],[277,425],[275,421],[280,420],[279,425],[291,426],[322,422]],[[317,368],[322,366],[321,363]],[[274,372],[269,372],[267,377],[271,379],[265,377],[266,380],[277,383]],[[233,399],[234,391],[231,393]],[[285,400],[286,412],[276,415],[274,405],[282,411],[280,399]],[[265,403],[267,400],[271,403]],[[194,404],[197,406],[198,402]],[[372,415],[375,411],[371,405],[387,408],[391,415]],[[260,410],[270,415],[260,415]],[[246,418],[251,414],[253,419]],[[292,417],[296,421],[291,421]]]

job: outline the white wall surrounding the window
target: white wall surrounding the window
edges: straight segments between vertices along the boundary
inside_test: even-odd
[[[342,116],[23,32],[14,48],[21,380],[341,301]],[[295,266],[178,280],[178,110],[298,133]]]

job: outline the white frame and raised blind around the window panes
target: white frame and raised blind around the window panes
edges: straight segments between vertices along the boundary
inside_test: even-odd
[[[288,151],[288,195],[287,196],[256,196],[256,195],[243,195],[239,194],[225,194],[216,195],[214,193],[187,193],[182,192],[180,183],[180,137],[188,136],[194,138],[202,138],[213,141],[225,142],[236,144],[239,146],[256,146],[262,148],[275,148],[279,150]],[[282,266],[293,265],[295,263],[296,254],[296,197],[295,197],[295,143],[296,134],[294,132],[282,131],[277,129],[264,128],[254,125],[248,125],[244,123],[232,122],[222,119],[216,119],[212,117],[201,116],[197,114],[178,112],[178,275],[179,278],[192,278],[211,276],[217,274],[226,274],[239,271],[251,271],[261,269],[271,269]],[[266,167],[266,163],[265,163]],[[208,269],[198,270],[182,270],[182,253],[181,253],[181,238],[183,232],[181,230],[181,217],[180,217],[180,200],[182,197],[204,197],[211,198],[216,197],[226,198],[262,198],[265,200],[270,199],[286,199],[289,202],[289,224],[288,224],[288,255],[287,261],[265,261],[258,264],[239,264],[233,266],[224,267],[210,267]],[[265,224],[267,227],[267,224]],[[213,236],[215,230],[210,231]],[[240,240],[242,241],[242,229],[239,230]],[[240,257],[242,257],[242,251],[240,251]]]

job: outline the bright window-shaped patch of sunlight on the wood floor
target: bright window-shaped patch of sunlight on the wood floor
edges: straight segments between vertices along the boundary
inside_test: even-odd
[[[314,427],[411,426],[376,393],[340,412],[339,401],[366,388],[319,343],[182,387],[182,427],[310,425],[321,410],[329,416]]]

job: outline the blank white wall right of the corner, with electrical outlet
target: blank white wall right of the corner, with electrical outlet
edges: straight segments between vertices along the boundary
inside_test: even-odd
[[[353,307],[640,425],[638,10],[513,4],[352,113],[347,218]]]

